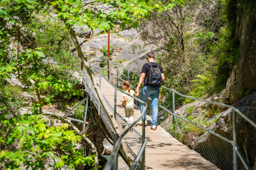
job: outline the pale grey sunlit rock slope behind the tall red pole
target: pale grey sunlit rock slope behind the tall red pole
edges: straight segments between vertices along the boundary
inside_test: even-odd
[[[99,34],[95,30],[95,35]],[[83,39],[82,39],[83,40]],[[82,40],[80,42],[82,42]],[[92,55],[96,57],[103,56],[104,48],[107,48],[107,34],[101,34],[92,37],[90,40],[84,41],[81,45],[82,51],[85,55]],[[110,45],[112,45],[112,59],[114,61],[122,60],[124,67],[129,67],[137,72],[140,72],[142,65],[147,62],[145,54],[151,50],[156,50],[155,45],[146,45],[139,33],[134,28],[122,30],[118,33],[110,34]],[[92,61],[94,59],[92,58]]]

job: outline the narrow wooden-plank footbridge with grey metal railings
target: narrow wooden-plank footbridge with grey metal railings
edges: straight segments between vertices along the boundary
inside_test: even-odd
[[[245,159],[245,156],[242,155],[236,145],[236,118],[241,116],[255,128],[256,124],[238,111],[238,109],[223,103],[185,96],[173,89],[165,86],[161,87],[170,91],[173,94],[173,98],[171,110],[169,110],[169,107],[166,108],[159,105],[159,115],[161,113],[169,113],[174,119],[173,123],[175,123],[175,119],[182,120],[188,125],[201,129],[205,134],[208,133],[215,137],[217,145],[209,142],[208,148],[210,149],[203,150],[198,147],[199,149],[196,152],[178,142],[160,126],[157,126],[156,130],[151,130],[149,126],[151,118],[149,115],[147,115],[148,126],[145,126],[144,116],[140,113],[137,106],[138,103],[142,103],[144,106],[143,113],[149,111],[151,106],[148,106],[134,96],[132,97],[134,97],[134,101],[137,103],[137,106],[134,108],[134,123],[132,125],[127,123],[124,119],[124,108],[121,106],[124,91],[122,91],[120,85],[124,79],[132,80],[132,77],[137,73],[123,67],[119,63],[110,61],[110,69],[105,69],[98,67],[99,64],[97,62],[107,62],[107,60],[105,58],[93,57],[91,64],[84,62],[85,69],[82,69],[82,83],[85,87],[87,99],[90,99],[90,102],[93,103],[102,124],[105,125],[105,130],[102,130],[102,132],[107,133],[105,134],[106,137],[114,145],[113,152],[105,169],[250,169],[247,159]],[[120,77],[120,72],[122,75],[126,74],[126,77]],[[197,125],[191,122],[191,120],[176,114],[175,96],[177,95],[233,109],[233,139],[227,139],[208,128]],[[85,118],[86,114],[87,107]],[[138,122],[141,120],[143,125],[139,126]],[[86,120],[84,119],[82,122],[85,123]],[[128,128],[125,128],[126,125],[129,125]],[[226,145],[219,146],[218,141],[220,140],[223,140]],[[227,148],[229,148],[228,153],[220,154],[223,149]],[[126,166],[120,166],[121,160]]]

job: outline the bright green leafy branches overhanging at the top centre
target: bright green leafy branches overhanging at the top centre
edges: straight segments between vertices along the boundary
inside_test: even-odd
[[[119,24],[122,28],[129,25],[137,27],[141,18],[144,18],[149,11],[156,8],[161,12],[173,8],[176,3],[182,4],[183,1],[170,1],[163,6],[161,2],[156,3],[153,0],[149,1],[95,1],[95,4],[104,4],[105,6],[113,6],[114,10],[98,11],[93,8],[85,8],[79,0],[68,1],[53,1],[51,5],[58,8],[58,17],[65,19],[66,23],[70,26],[83,26],[87,25],[91,29],[100,28],[100,30],[107,30],[114,28],[114,21],[121,21]],[[82,11],[82,12],[81,12]]]

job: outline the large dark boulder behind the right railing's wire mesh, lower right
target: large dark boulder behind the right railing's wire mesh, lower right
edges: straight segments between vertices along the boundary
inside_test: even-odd
[[[242,98],[234,106],[244,113],[247,118],[256,122],[256,92]],[[256,157],[256,128],[238,114],[236,116],[236,122],[238,147],[245,160],[249,162],[250,167],[253,167]],[[210,126],[210,130],[229,140],[233,140],[233,111],[229,108],[223,113],[220,113],[220,118]],[[232,145],[210,134],[210,132],[206,132],[195,140],[194,149],[201,153],[203,157],[210,160],[210,162],[217,164],[220,169],[230,169],[230,167],[233,167]],[[238,169],[245,169],[239,157]]]

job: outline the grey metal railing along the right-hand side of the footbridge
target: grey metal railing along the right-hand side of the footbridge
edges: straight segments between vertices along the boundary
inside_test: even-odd
[[[95,56],[90,56],[90,55],[86,55],[88,57],[95,57]],[[99,58],[101,60],[109,60],[109,59],[106,59],[106,58],[102,58],[102,57],[95,57],[95,58]],[[113,61],[111,61],[113,62]],[[122,66],[122,64],[119,64],[117,62],[114,62],[114,64],[117,64],[121,67],[124,67]],[[127,67],[124,67],[125,69],[128,69],[129,71],[139,75],[137,72],[134,72],[132,69],[129,69]],[[118,67],[117,67],[118,69]],[[110,69],[107,69],[108,72],[111,72],[112,74],[114,74],[112,71],[110,71]],[[117,71],[118,73],[118,71]],[[129,73],[129,72],[128,72]],[[121,77],[119,77],[118,74],[114,74],[114,76],[117,77],[117,79],[122,79]],[[128,75],[129,77],[129,75]],[[122,79],[123,80],[123,79]],[[124,80],[123,80],[124,81]],[[109,81],[110,84],[112,84],[110,81]],[[112,86],[114,86],[114,84],[112,84]],[[252,125],[253,127],[256,128],[256,123],[254,123],[252,120],[250,120],[250,118],[247,118],[246,115],[244,115],[243,113],[241,113],[237,108],[235,108],[234,106],[230,106],[228,104],[224,104],[224,103],[218,103],[218,102],[215,102],[215,101],[209,101],[209,100],[206,100],[206,99],[201,99],[201,98],[195,98],[195,97],[192,97],[192,96],[186,96],[186,95],[183,95],[183,94],[180,94],[178,93],[177,91],[174,91],[174,89],[169,89],[168,87],[166,86],[161,86],[162,88],[166,89],[166,90],[169,90],[169,91],[172,91],[173,93],[173,102],[174,102],[174,99],[175,99],[175,95],[174,94],[178,94],[179,96],[182,96],[184,98],[191,98],[193,100],[198,100],[198,101],[205,101],[206,103],[213,103],[215,105],[218,105],[218,106],[224,106],[224,107],[227,107],[227,108],[231,108],[233,110],[233,141],[232,140],[228,140],[227,138],[209,130],[208,128],[204,128],[202,127],[201,125],[197,125],[196,123],[193,123],[192,121],[190,120],[187,120],[186,118],[183,118],[181,117],[180,115],[177,115],[175,114],[175,106],[173,106],[173,113],[171,111],[169,111],[167,108],[165,108],[164,106],[161,106],[159,105],[159,107],[163,108],[166,112],[170,113],[171,115],[174,115],[175,117],[177,118],[181,118],[182,120],[185,120],[186,122],[188,123],[191,123],[193,125],[196,125],[198,128],[202,128],[203,130],[206,130],[207,132],[210,132],[211,134],[217,136],[217,137],[220,137],[221,139],[225,140],[226,142],[229,142],[232,144],[233,146],[233,168],[236,169],[237,168],[237,154],[238,154],[238,157],[240,157],[241,161],[242,161],[242,164],[244,164],[244,166],[246,167],[246,169],[250,169],[250,166],[248,165],[247,161],[245,160],[245,158],[242,156],[241,152],[240,152],[240,149],[238,148],[238,146],[236,145],[236,125],[235,125],[235,113],[238,113],[242,118],[244,118],[245,120],[247,120],[247,122],[250,123],[250,125]],[[122,90],[121,90],[122,91]],[[124,92],[125,93],[125,92]],[[129,95],[129,94],[128,94]],[[133,123],[134,124],[134,123]],[[132,124],[132,125],[133,125]]]

